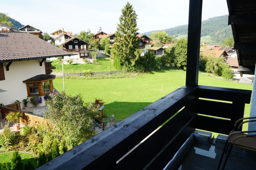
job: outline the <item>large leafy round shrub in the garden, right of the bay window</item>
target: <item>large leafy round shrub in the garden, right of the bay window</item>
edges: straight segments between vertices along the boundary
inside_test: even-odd
[[[98,115],[98,106],[94,102],[85,107],[79,95],[61,93],[50,96],[44,116],[55,125],[53,131],[62,135],[69,149],[95,135],[94,131],[89,130],[93,117]]]

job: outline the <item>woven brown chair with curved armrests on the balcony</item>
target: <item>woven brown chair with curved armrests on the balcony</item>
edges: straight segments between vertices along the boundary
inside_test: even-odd
[[[219,161],[217,170],[220,169],[220,165],[222,163],[224,154],[226,154],[228,152],[228,154],[226,155],[225,162],[222,167],[222,170],[224,170],[233,146],[248,149],[251,151],[256,151],[256,135],[245,134],[245,133],[256,132],[256,130],[238,131],[241,128],[242,124],[256,121],[256,120],[247,120],[247,121],[240,123],[239,126],[237,127],[238,123],[245,119],[256,119],[256,117],[241,118],[238,121],[236,121],[233,130],[230,132],[229,136],[226,138],[226,142],[225,142],[225,145],[223,148],[222,155],[220,157],[220,161]],[[230,145],[230,147],[229,147],[229,145]]]

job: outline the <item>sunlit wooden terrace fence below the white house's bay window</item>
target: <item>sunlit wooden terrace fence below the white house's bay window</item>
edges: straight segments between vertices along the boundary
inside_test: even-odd
[[[9,105],[6,105],[6,106],[9,106]],[[22,112],[23,116],[20,119],[20,124],[22,124],[22,125],[34,126],[35,128],[37,128],[36,122],[37,122],[37,124],[38,123],[44,123],[46,125],[50,124],[49,121],[47,121],[47,119],[44,119],[41,116],[36,116],[34,114],[31,114],[31,113],[28,113],[28,112],[23,112],[21,110],[17,110],[17,109],[14,109],[14,108],[9,108],[9,107],[6,107],[6,106],[1,106],[2,119],[5,119],[5,115],[9,112]]]

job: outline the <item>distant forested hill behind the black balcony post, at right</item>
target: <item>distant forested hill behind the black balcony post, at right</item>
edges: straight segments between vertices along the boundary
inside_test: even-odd
[[[188,25],[178,26],[174,28],[164,29],[168,35],[177,37],[178,35],[188,34]],[[150,36],[158,30],[146,32],[144,34]],[[226,38],[232,36],[231,26],[228,26],[228,15],[213,17],[202,21],[201,36],[210,35],[215,42],[224,42]]]

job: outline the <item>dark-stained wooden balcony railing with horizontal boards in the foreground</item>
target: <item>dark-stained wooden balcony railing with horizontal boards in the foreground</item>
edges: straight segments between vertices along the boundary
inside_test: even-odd
[[[228,135],[250,99],[250,90],[183,86],[38,169],[163,169],[195,129]]]

